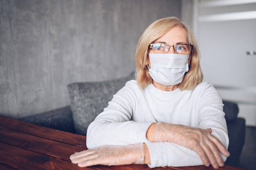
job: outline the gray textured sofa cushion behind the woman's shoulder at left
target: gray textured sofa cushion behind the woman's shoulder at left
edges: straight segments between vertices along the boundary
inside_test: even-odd
[[[127,81],[132,79],[134,79],[134,74],[110,81],[68,85],[67,89],[76,133],[86,135],[90,123],[108,106],[108,102],[113,95],[124,87]]]

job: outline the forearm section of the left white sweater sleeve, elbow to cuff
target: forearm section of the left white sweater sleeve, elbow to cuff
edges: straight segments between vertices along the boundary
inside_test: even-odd
[[[96,148],[102,145],[130,145],[149,142],[146,131],[151,123],[148,122],[95,122],[88,128],[86,145]]]

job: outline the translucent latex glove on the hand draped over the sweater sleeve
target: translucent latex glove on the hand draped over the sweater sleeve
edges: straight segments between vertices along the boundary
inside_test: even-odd
[[[224,166],[219,151],[229,156],[229,152],[213,135],[211,129],[192,128],[185,125],[158,122],[156,125],[156,142],[173,142],[195,151],[205,166],[213,168]]]

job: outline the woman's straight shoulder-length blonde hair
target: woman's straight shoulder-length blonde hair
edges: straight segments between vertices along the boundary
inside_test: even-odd
[[[203,74],[200,67],[200,53],[198,45],[195,40],[195,36],[191,29],[181,20],[176,17],[168,17],[156,20],[146,28],[144,33],[139,38],[137,49],[135,52],[135,64],[136,64],[136,80],[140,88],[146,87],[146,85],[152,83],[152,78],[148,73],[146,67],[146,60],[148,57],[148,46],[166,34],[171,28],[175,26],[182,27],[188,36],[189,44],[193,45],[191,51],[191,60],[189,65],[189,71],[185,73],[182,82],[178,85],[180,90],[193,89],[199,83],[202,82]]]

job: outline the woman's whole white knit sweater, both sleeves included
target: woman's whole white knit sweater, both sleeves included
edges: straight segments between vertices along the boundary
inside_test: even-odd
[[[203,165],[199,155],[170,142],[150,142],[146,131],[159,121],[202,129],[211,128],[213,136],[227,148],[229,138],[222,99],[208,82],[193,90],[167,92],[153,84],[140,89],[135,80],[115,94],[108,107],[89,125],[87,147],[146,143],[150,152],[150,168],[159,166]],[[223,155],[223,161],[226,157]]]

